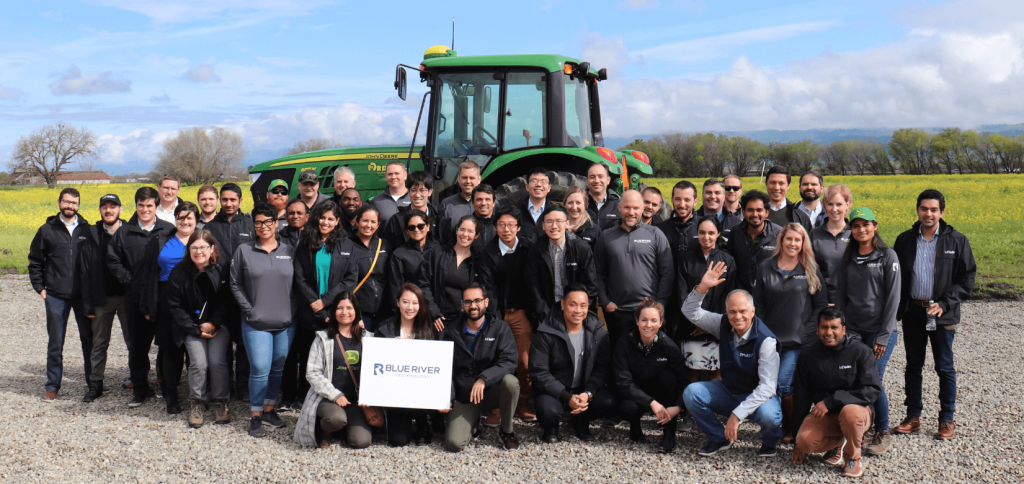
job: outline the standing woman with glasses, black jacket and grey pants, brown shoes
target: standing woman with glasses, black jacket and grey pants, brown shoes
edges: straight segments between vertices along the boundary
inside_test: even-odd
[[[227,273],[217,265],[220,253],[213,234],[197,230],[185,247],[186,256],[171,270],[165,289],[174,341],[183,344],[188,352],[188,427],[198,429],[211,403],[217,424],[231,422],[227,410],[227,348],[231,336],[222,319],[224,303],[230,301],[231,295]]]

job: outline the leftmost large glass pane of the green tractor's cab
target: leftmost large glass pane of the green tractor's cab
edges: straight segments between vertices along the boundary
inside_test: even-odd
[[[441,74],[434,156],[479,155],[498,144],[498,96],[501,81],[493,74]],[[490,105],[487,105],[489,101]]]

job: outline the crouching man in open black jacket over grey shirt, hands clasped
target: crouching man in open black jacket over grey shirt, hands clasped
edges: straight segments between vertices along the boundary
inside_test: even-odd
[[[547,443],[558,442],[558,423],[566,410],[583,441],[594,440],[590,423],[614,408],[607,389],[611,350],[608,333],[590,313],[590,294],[581,283],[565,287],[561,309],[541,323],[530,348],[529,375],[538,420]]]

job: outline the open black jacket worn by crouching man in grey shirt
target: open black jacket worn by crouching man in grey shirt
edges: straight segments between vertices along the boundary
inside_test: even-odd
[[[611,349],[608,332],[596,316],[588,314],[581,331],[584,332],[583,367],[584,391],[597,393],[607,384]],[[529,378],[535,392],[558,398],[562,404],[572,398],[572,377],[575,376],[572,343],[565,329],[565,316],[561,309],[551,311],[537,329],[529,347]]]

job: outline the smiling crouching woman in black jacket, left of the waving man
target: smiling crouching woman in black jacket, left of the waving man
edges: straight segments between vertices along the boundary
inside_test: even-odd
[[[676,447],[676,427],[689,381],[679,346],[662,331],[665,307],[650,298],[637,306],[637,326],[615,344],[611,367],[622,396],[618,411],[630,423],[630,440],[642,442],[640,417],[648,410],[662,424],[658,451]]]

